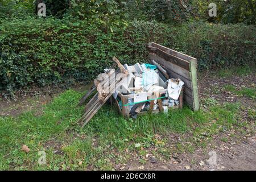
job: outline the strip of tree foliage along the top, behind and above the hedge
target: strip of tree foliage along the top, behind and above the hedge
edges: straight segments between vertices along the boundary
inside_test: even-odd
[[[158,20],[180,23],[207,20],[212,23],[256,23],[256,0],[215,0],[217,17],[209,17],[205,0],[0,0],[1,18],[24,18],[36,15],[38,3],[46,3],[47,16],[101,20],[105,26],[116,20]]]

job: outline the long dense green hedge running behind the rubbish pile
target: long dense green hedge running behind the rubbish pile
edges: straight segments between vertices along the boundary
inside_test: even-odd
[[[255,26],[205,22],[118,22],[109,29],[101,22],[68,18],[3,22],[0,90],[89,82],[112,64],[113,56],[122,63],[147,61],[151,41],[196,57],[200,70],[254,63],[255,32]]]

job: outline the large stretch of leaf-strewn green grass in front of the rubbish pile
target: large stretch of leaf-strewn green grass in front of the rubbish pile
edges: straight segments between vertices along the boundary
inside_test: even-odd
[[[42,115],[30,111],[18,117],[0,117],[0,169],[110,170],[113,159],[116,163],[128,160],[126,150],[143,156],[143,150],[156,147],[156,154],[166,158],[170,152],[193,152],[194,144],[204,147],[212,135],[229,130],[239,120],[239,103],[218,105],[213,100],[205,111],[193,112],[185,106],[167,115],[144,115],[135,121],[123,119],[115,107],[105,105],[81,129],[77,119],[82,107],[76,107],[81,96],[68,90],[44,106]],[[193,137],[187,141],[191,143],[177,143],[174,151],[166,146],[168,134],[189,132]],[[20,150],[24,144],[30,148],[27,154]],[[39,151],[46,151],[47,165],[38,164]]]

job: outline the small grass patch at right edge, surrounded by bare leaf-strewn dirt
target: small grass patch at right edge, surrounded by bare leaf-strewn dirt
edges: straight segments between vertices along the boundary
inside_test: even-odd
[[[233,92],[234,94],[237,94],[238,96],[245,96],[255,99],[256,98],[256,88],[241,88],[238,90],[234,85],[225,85],[225,90],[229,92]]]

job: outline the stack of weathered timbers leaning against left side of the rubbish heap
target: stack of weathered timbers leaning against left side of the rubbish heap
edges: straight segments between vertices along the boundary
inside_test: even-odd
[[[115,87],[118,85],[122,85],[124,78],[127,77],[128,72],[123,67],[123,65],[119,62],[119,60],[114,57],[113,61],[115,62],[112,67],[106,72],[106,74],[102,77],[98,77],[94,80],[94,85],[86,93],[80,100],[79,106],[84,104],[86,99],[97,90],[96,94],[92,97],[92,99],[86,104],[84,109],[84,114],[79,119],[79,123],[82,123],[82,127],[84,127],[90,119],[97,113],[98,110],[109,100],[112,94],[115,92]],[[118,69],[114,71],[114,67],[118,66]]]

